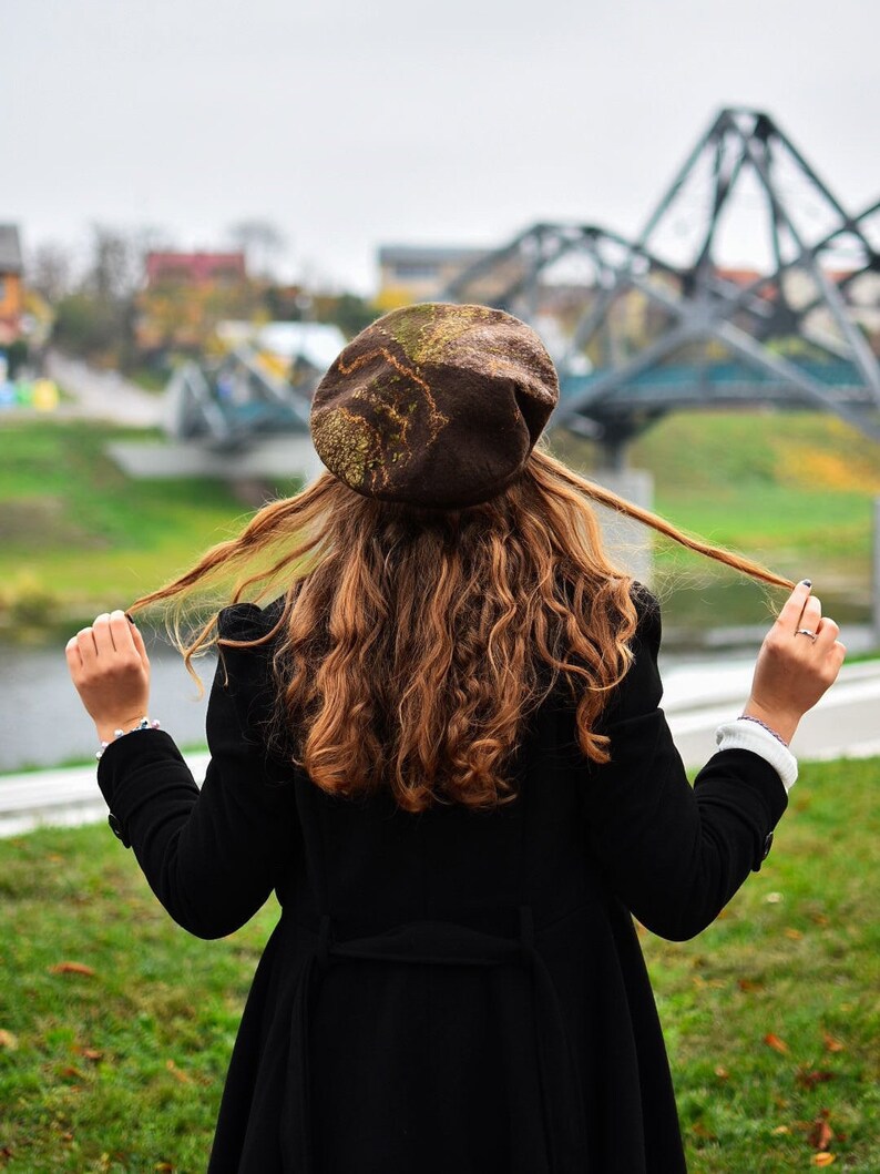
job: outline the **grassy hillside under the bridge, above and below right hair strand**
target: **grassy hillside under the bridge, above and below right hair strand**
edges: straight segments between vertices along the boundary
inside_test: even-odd
[[[560,438],[557,451],[596,468],[588,443]],[[645,432],[630,461],[654,474],[655,510],[678,527],[791,579],[812,579],[837,616],[867,619],[880,444],[824,414],[690,412]],[[673,622],[766,616],[765,593],[749,580],[671,544],[655,551]]]

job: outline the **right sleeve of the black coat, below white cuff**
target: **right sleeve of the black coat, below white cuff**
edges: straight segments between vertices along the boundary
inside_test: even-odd
[[[787,796],[776,770],[750,750],[715,754],[691,788],[658,708],[659,607],[647,592],[638,606],[635,659],[604,715],[611,761],[590,769],[587,832],[638,920],[684,940],[760,868]]]

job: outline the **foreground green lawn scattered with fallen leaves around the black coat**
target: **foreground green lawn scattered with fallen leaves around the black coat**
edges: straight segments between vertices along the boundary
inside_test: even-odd
[[[643,938],[692,1174],[880,1169],[879,771],[805,767],[722,918]],[[0,1165],[198,1174],[276,909],[190,938],[103,825],[0,842]]]

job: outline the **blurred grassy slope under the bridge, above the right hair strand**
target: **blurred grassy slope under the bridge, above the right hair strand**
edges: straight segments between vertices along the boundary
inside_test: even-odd
[[[880,445],[813,413],[672,416],[635,445],[659,513],[791,578],[866,586]],[[676,547],[661,562],[681,562]],[[688,556],[686,565],[695,560]],[[705,561],[699,560],[705,569]]]

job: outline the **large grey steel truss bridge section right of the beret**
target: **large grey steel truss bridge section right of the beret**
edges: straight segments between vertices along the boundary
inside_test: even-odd
[[[756,268],[725,263],[731,242]],[[611,465],[697,405],[821,409],[880,440],[880,202],[847,211],[758,110],[718,114],[637,239],[535,224],[442,296],[535,324],[560,370],[554,423]]]

